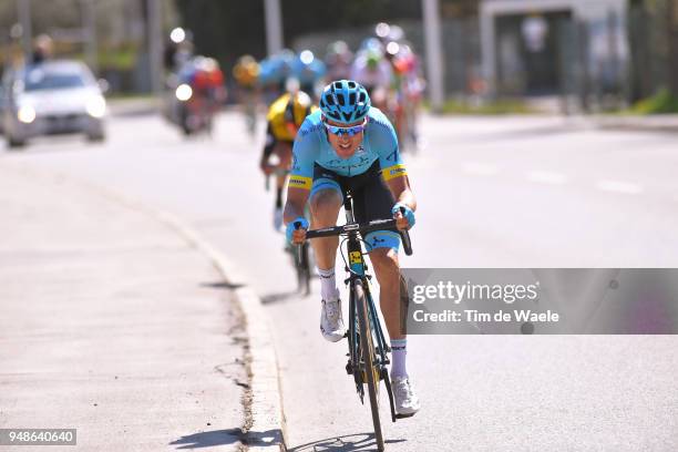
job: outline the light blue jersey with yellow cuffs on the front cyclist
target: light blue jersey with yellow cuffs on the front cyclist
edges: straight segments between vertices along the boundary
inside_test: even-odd
[[[318,110],[308,115],[295,140],[289,186],[311,189],[316,163],[341,176],[351,177],[364,173],[379,160],[384,181],[407,175],[396,131],[389,120],[373,106],[367,117],[362,143],[352,156],[341,158],[328,141],[322,113]]]

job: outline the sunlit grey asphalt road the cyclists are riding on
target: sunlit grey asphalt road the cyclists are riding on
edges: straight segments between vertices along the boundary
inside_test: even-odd
[[[227,113],[213,138],[155,116],[113,119],[110,140],[37,140],[0,158],[85,179],[172,212],[234,261],[275,319],[290,450],[372,450],[345,343],[300,298],[260,137]],[[561,119],[435,119],[407,156],[419,199],[407,267],[678,267],[675,134],[597,131]],[[316,288],[317,289],[317,288]],[[317,294],[317,290],[316,290]],[[675,336],[417,336],[421,413],[384,422],[389,451],[675,451]],[[384,410],[386,414],[386,410]]]

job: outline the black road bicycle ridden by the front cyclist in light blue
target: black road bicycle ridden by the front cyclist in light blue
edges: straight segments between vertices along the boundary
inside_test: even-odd
[[[391,352],[391,348],[387,345],[383,328],[370,294],[369,280],[371,276],[368,275],[368,267],[364,263],[364,256],[369,253],[362,250],[362,243],[364,240],[361,237],[364,237],[364,235],[373,230],[396,228],[396,219],[377,219],[364,224],[356,223],[350,192],[347,193],[345,197],[343,208],[347,219],[343,226],[308,230],[306,237],[309,239],[330,236],[345,237],[341,242],[340,249],[341,257],[346,264],[346,270],[349,274],[345,284],[349,286],[350,294],[349,323],[348,331],[345,335],[349,346],[349,359],[346,364],[346,371],[349,376],[353,376],[358,397],[363,404],[364,386],[367,384],[368,387],[372,422],[374,424],[374,438],[379,451],[383,451],[383,435],[379,418],[379,388],[381,381],[383,381],[389,397],[392,422],[396,422],[397,419],[409,418],[412,414],[405,415],[396,413],[393,391],[387,368],[387,366],[390,364],[388,353]],[[296,223],[295,226],[297,228],[300,227],[298,223]],[[410,256],[412,254],[410,235],[407,230],[399,230],[399,234],[402,239],[403,249],[405,254]],[[342,251],[345,243],[346,255]],[[401,277],[401,290],[407,290],[402,282],[403,279]],[[403,297],[401,297],[401,300],[402,298]]]

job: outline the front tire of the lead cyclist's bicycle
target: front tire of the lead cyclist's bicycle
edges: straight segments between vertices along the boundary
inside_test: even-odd
[[[362,360],[364,362],[364,373],[370,397],[370,410],[372,412],[372,423],[374,424],[374,439],[377,440],[377,449],[383,451],[383,435],[381,433],[381,420],[379,419],[379,369],[374,367],[374,343],[372,342],[372,332],[368,317],[367,297],[364,296],[361,280],[356,281],[353,291],[358,310]]]

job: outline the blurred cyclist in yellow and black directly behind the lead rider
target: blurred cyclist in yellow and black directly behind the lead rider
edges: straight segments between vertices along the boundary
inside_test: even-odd
[[[259,167],[267,176],[281,168],[276,174],[276,204],[274,208],[274,228],[279,230],[282,226],[282,188],[291,164],[292,142],[297,136],[299,126],[311,113],[311,99],[304,91],[299,91],[294,81],[289,82],[289,92],[278,97],[268,109],[266,120],[266,142],[259,162]],[[271,156],[276,155],[278,164],[271,164]]]

